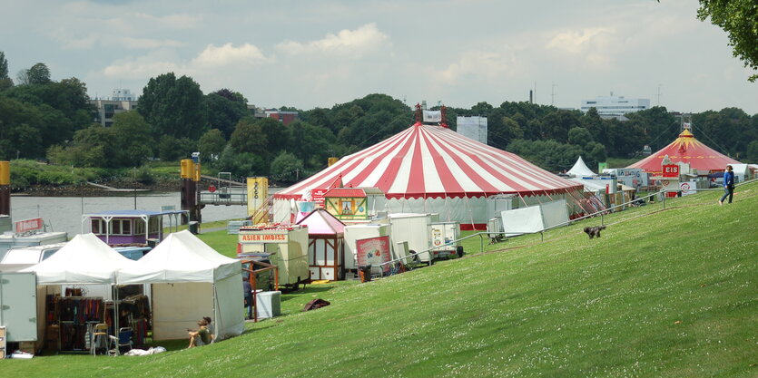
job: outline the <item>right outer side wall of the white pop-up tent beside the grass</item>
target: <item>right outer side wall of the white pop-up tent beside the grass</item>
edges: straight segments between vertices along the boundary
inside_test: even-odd
[[[239,336],[245,330],[242,275],[228,276],[216,281],[215,315],[213,316],[216,339]],[[228,309],[231,308],[231,311]],[[236,311],[234,309],[237,309]]]

